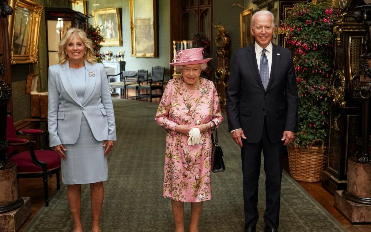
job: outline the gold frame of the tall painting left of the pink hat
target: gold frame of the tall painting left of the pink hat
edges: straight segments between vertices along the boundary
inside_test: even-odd
[[[153,0],[153,30],[154,30],[154,52],[153,53],[138,53],[135,48],[135,23],[134,23],[134,0],[129,0],[130,7],[130,29],[131,29],[131,56],[135,57],[155,57],[157,56],[157,16],[156,16],[156,0]]]

